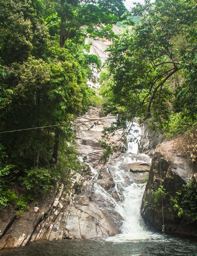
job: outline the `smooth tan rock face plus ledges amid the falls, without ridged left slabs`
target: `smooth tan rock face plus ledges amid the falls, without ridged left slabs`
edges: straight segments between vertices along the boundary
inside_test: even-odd
[[[91,107],[84,121],[98,118],[99,110]],[[77,127],[79,154],[91,167],[92,178],[84,181],[81,193],[75,195],[70,204],[65,227],[71,237],[93,238],[121,233],[124,220],[118,207],[124,200],[124,191],[133,182],[144,182],[148,176],[150,158],[145,154],[117,152],[106,164],[101,161],[104,149],[98,142],[102,139],[103,127],[114,121],[109,118],[84,122]],[[122,132],[116,132],[110,141],[116,142],[121,137]],[[138,164],[133,164],[136,161]],[[135,172],[130,171],[131,165],[133,169],[135,166]]]

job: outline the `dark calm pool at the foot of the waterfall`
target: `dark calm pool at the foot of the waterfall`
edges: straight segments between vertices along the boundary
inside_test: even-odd
[[[158,240],[126,242],[93,240],[37,241],[29,245],[0,252],[1,256],[140,256],[140,255],[197,255],[194,239],[165,236]]]

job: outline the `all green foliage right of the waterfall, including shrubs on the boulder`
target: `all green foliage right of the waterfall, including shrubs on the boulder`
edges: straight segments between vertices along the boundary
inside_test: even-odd
[[[101,72],[103,112],[118,117],[103,134],[109,136],[123,129],[135,135],[133,121],[136,119],[162,132],[165,138],[184,134],[177,138],[174,149],[177,147],[184,157],[189,155],[195,169],[196,3],[194,0],[155,0],[152,3],[145,0],[145,5],[136,4],[133,15],[142,17],[140,23],[114,40],[108,49],[106,70]],[[120,24],[123,26],[123,22]],[[113,145],[106,142],[102,145],[106,148],[104,157],[107,159],[113,154]],[[151,203],[144,201],[143,204],[162,216],[164,203],[164,213],[171,212],[174,221],[182,219],[186,224],[195,225],[195,178],[175,194],[168,187],[170,179],[176,186],[178,181],[172,176],[167,177],[167,183],[154,179],[149,185]],[[148,180],[150,182],[150,176]],[[160,182],[157,184],[156,180]]]

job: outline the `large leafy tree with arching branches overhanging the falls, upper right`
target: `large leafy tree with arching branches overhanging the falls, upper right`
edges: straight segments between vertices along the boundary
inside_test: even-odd
[[[195,1],[145,1],[133,15],[143,18],[109,47],[101,89],[105,114],[129,117],[106,132],[136,116],[173,137],[196,122]]]

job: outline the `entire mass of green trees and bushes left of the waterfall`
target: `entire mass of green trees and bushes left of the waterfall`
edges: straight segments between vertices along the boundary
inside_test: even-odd
[[[73,119],[96,104],[87,80],[101,62],[87,35],[112,38],[122,0],[0,0],[0,206],[69,181],[77,162]],[[58,126],[59,124],[64,124]]]

